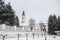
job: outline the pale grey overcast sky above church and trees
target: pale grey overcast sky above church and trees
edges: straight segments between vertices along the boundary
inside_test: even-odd
[[[34,18],[36,22],[47,22],[50,14],[60,15],[60,0],[5,0],[5,3],[8,2],[11,2],[19,20],[23,10],[27,22],[30,18]]]

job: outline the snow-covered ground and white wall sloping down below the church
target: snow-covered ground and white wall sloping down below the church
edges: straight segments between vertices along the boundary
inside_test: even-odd
[[[34,33],[34,38],[32,35],[33,33]],[[0,27],[0,40],[3,40],[3,36],[5,36],[5,35],[6,36],[5,36],[4,40],[18,40],[17,34],[19,34],[19,40],[45,40],[44,32],[21,31],[20,29],[14,30],[14,27],[9,27],[9,26],[6,26],[6,29],[2,30],[2,27]],[[26,34],[28,34],[28,36]],[[60,40],[60,36],[48,35],[46,33],[46,40]]]

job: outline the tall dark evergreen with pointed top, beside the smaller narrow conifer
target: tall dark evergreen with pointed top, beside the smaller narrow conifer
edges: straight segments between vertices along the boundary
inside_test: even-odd
[[[7,5],[6,5],[6,7],[7,7],[7,9],[8,9],[8,11],[7,11],[7,21],[10,23],[10,25],[12,26],[12,25],[14,25],[15,24],[15,13],[14,13],[14,11],[13,11],[13,9],[12,9],[12,7],[11,7],[11,5],[10,5],[10,3],[8,3]]]

